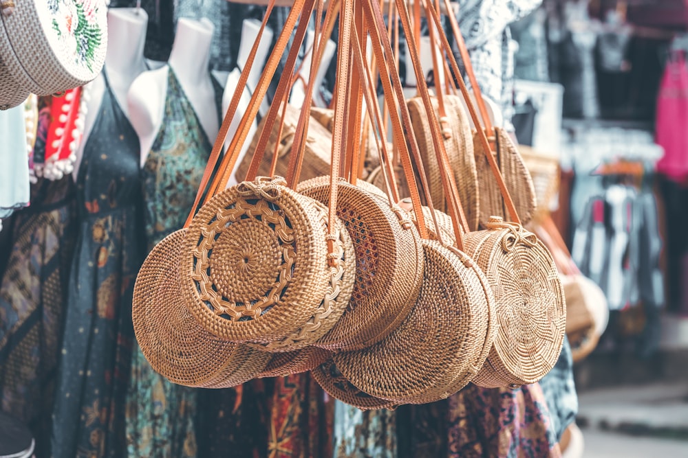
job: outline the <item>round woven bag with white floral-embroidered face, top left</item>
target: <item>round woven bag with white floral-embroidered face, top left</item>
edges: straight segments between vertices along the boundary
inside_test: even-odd
[[[0,12],[0,60],[22,89],[52,95],[83,86],[103,68],[105,1],[3,0]]]

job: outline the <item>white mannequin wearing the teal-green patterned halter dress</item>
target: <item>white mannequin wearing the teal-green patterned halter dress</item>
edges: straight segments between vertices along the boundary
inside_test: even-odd
[[[213,23],[208,19],[180,18],[168,65],[145,71],[131,84],[127,102],[131,124],[141,144],[141,165],[146,162],[162,125],[170,68],[189,98],[208,139],[211,143],[215,141],[219,123],[215,89],[208,71],[212,38]]]

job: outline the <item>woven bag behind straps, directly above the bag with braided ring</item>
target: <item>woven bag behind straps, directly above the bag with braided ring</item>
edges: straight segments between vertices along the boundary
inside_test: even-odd
[[[286,113],[284,116],[284,126],[282,128],[281,136],[279,140],[277,135],[279,134],[279,119],[281,119],[281,108],[279,110],[278,122],[272,125],[272,130],[270,130],[270,139],[268,140],[268,145],[266,146],[265,155],[263,161],[258,168],[259,175],[269,175],[270,174],[270,163],[272,162],[272,156],[275,152],[275,145],[279,143],[279,148],[277,150],[277,168],[276,174],[279,176],[287,175],[287,168],[289,165],[290,151],[292,150],[292,141],[294,141],[294,135],[296,133],[297,123],[299,122],[299,115],[301,110],[295,108],[292,105],[287,105]],[[257,135],[254,135],[244,159],[241,161],[237,167],[236,176],[241,177],[241,179],[246,176],[248,168],[253,159],[253,154],[258,147],[258,141],[260,139],[259,133],[263,131],[267,117],[263,118],[263,121],[258,126],[256,130]],[[319,122],[311,117],[308,120],[308,138],[305,141],[305,152],[303,154],[303,166],[301,168],[301,179],[307,180],[315,178],[316,176],[321,176],[330,173],[330,157],[332,155],[332,134],[329,130],[324,128]]]

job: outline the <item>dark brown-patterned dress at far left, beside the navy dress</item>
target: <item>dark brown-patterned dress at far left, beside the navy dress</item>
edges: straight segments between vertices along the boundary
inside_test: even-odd
[[[28,424],[36,457],[44,458],[50,455],[55,369],[74,249],[72,177],[39,179],[31,201],[5,229],[12,231],[12,241],[0,284],[0,410]]]

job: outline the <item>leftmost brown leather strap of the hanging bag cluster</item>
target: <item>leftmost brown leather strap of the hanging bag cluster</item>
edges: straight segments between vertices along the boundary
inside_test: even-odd
[[[219,155],[222,152],[222,145],[224,145],[227,133],[229,132],[229,126],[232,123],[232,119],[234,119],[234,116],[237,112],[237,107],[239,106],[241,95],[244,94],[244,88],[246,87],[246,82],[248,82],[248,74],[250,73],[251,68],[253,67],[253,61],[255,60],[258,48],[260,46],[261,38],[263,37],[263,32],[265,31],[265,27],[268,25],[268,19],[270,19],[270,14],[272,13],[272,8],[274,6],[275,0],[270,0],[270,3],[268,3],[268,8],[266,10],[265,16],[263,18],[263,22],[261,23],[260,29],[258,31],[258,36],[256,38],[255,43],[253,43],[253,46],[251,47],[250,53],[248,54],[246,65],[244,66],[244,69],[241,71],[241,75],[239,76],[237,88],[235,89],[234,94],[232,95],[232,100],[230,101],[229,107],[227,108],[227,113],[225,113],[224,119],[222,120],[222,125],[220,126],[219,132],[217,133],[217,138],[215,138],[215,144],[213,144],[211,155],[210,157],[208,157],[206,170],[203,172],[201,183],[196,193],[196,198],[193,201],[193,206],[191,207],[189,216],[186,218],[186,222],[184,222],[184,227],[189,227],[189,224],[191,224],[191,218],[193,218],[193,215],[195,215],[198,204],[200,203],[201,198],[203,196],[203,192],[206,190],[206,186],[208,185],[208,181],[210,181],[211,179],[213,170],[215,170],[215,165],[217,165],[217,160],[219,159]],[[208,194],[211,193],[208,192]],[[206,197],[206,201],[207,199],[208,197]]]

